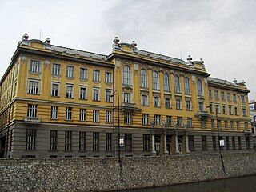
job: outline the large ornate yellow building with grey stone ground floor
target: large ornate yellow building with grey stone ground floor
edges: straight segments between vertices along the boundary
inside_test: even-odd
[[[204,62],[138,50],[109,55],[28,39],[0,82],[2,158],[113,157],[252,150],[244,82]],[[218,131],[219,130],[219,131]]]

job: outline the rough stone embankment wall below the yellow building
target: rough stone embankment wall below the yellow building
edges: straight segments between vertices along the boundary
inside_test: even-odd
[[[256,153],[0,160],[0,191],[107,191],[256,174]]]

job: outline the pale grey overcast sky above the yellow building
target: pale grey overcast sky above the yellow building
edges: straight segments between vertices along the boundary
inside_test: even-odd
[[[256,100],[255,7],[255,0],[0,0],[0,78],[24,33],[99,54],[110,54],[118,36],[141,50],[203,58],[212,77],[244,80]]]

